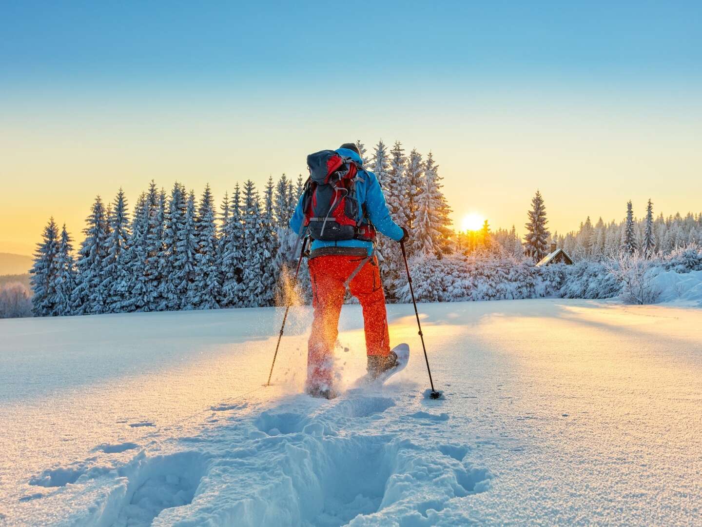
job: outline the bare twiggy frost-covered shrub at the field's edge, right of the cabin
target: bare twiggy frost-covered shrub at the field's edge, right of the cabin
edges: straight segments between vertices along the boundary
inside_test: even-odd
[[[660,266],[658,259],[641,252],[620,251],[603,262],[604,268],[622,285],[622,294],[632,304],[652,304],[661,295],[656,287],[654,268]]]

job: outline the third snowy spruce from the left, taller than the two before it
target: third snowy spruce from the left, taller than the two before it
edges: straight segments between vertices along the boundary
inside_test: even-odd
[[[99,314],[107,311],[105,263],[107,262],[107,218],[100,196],[95,198],[91,214],[83,230],[85,239],[81,243],[76,261],[76,288],[72,303],[79,315]]]

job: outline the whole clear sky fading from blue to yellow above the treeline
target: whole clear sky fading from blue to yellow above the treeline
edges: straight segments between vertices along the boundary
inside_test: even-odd
[[[536,188],[559,230],[649,195],[695,209],[701,27],[684,1],[5,0],[0,241],[49,214],[77,233],[119,185],[220,197],[355,138],[433,150],[456,219],[519,228]]]

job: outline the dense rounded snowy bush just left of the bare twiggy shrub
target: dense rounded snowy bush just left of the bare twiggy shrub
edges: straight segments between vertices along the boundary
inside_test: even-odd
[[[604,299],[621,293],[621,281],[600,262],[581,260],[564,268],[565,278],[558,292],[559,297]]]

